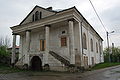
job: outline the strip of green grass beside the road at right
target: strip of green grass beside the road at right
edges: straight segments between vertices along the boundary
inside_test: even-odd
[[[100,63],[100,64],[96,64],[94,67],[92,67],[92,70],[103,69],[103,68],[117,66],[117,65],[120,65],[120,63]]]

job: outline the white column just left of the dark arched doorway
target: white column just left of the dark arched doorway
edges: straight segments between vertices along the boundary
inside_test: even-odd
[[[25,64],[29,65],[29,50],[30,50],[30,31],[26,31],[26,52],[25,52]]]

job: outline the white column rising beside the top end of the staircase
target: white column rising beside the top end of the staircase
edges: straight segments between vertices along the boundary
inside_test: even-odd
[[[48,64],[48,54],[49,54],[49,25],[45,26],[45,40],[46,40],[46,49],[45,49],[45,64]]]

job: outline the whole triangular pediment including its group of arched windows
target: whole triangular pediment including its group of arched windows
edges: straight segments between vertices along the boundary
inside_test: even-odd
[[[56,12],[49,8],[42,8],[40,6],[35,6],[33,10],[26,16],[26,18],[19,24],[23,25],[26,23],[34,22],[42,18],[54,15]]]

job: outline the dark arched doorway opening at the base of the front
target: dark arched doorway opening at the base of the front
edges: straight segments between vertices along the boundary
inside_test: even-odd
[[[37,70],[42,71],[42,61],[38,56],[34,56],[31,59],[31,69],[34,71],[37,71]]]

